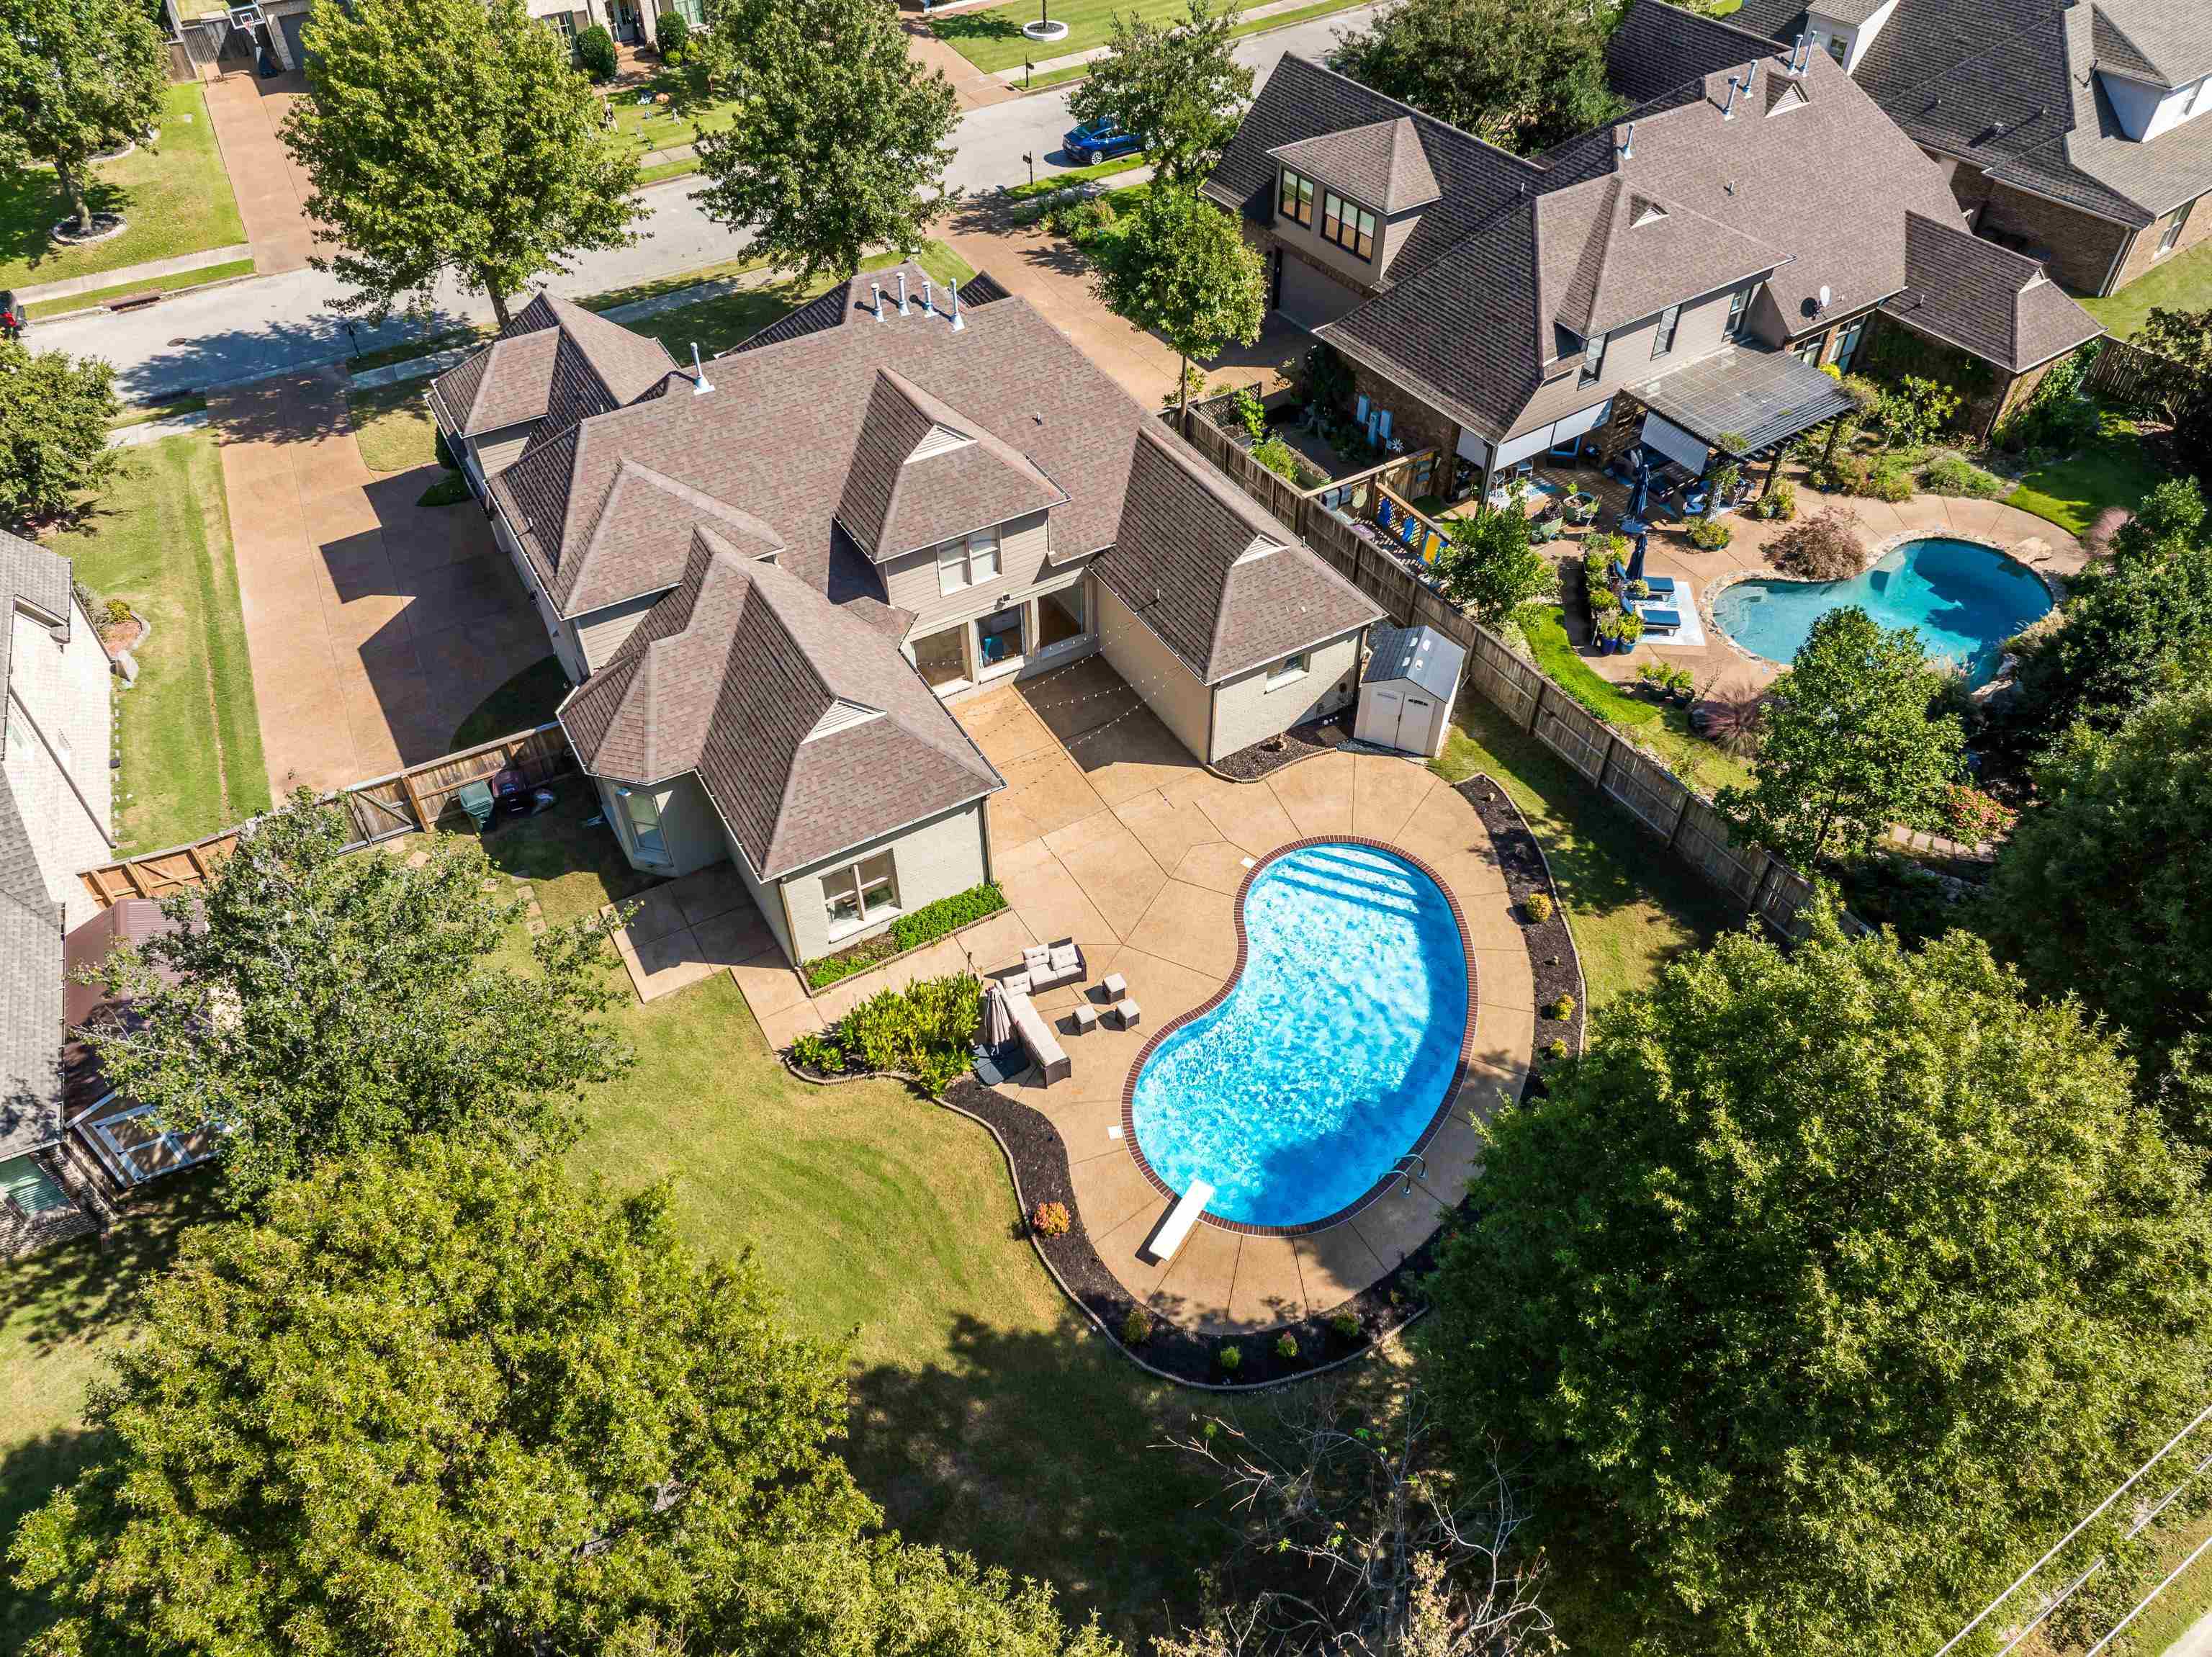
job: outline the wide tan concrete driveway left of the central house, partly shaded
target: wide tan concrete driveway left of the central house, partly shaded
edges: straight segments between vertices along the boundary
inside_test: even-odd
[[[451,752],[549,653],[482,509],[361,460],[336,372],[210,398],[270,788],[341,788]]]

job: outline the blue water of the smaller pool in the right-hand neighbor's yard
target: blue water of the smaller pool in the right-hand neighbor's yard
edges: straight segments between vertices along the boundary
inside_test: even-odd
[[[1971,684],[1997,670],[2002,644],[2051,608],[2026,564],[1971,540],[1909,540],[1847,582],[1736,582],[1712,619],[1767,661],[1790,661],[1812,624],[1856,604],[1880,626],[1920,633],[1931,657],[1964,664]]]

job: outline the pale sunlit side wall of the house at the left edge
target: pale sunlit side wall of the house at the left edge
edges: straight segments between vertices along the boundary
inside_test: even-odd
[[[13,611],[11,622],[7,781],[46,896],[62,905],[64,925],[75,927],[95,907],[77,872],[106,863],[113,852],[102,834],[115,821],[113,673],[93,619],[75,600],[69,644],[22,611]]]

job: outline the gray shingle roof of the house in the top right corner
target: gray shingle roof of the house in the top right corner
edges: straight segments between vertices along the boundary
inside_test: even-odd
[[[1805,4],[1745,0],[1736,18],[1790,38]],[[2148,144],[2130,139],[2093,73],[2099,62],[2152,82],[2203,73],[2212,69],[2212,9],[2201,0],[1898,0],[1858,82],[1920,144],[2000,184],[2141,228],[2212,190],[2212,117]]]

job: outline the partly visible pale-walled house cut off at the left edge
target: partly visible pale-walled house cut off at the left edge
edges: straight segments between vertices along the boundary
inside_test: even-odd
[[[0,533],[0,1252],[77,1228],[62,1139],[62,931],[108,858],[108,655],[66,557]]]

